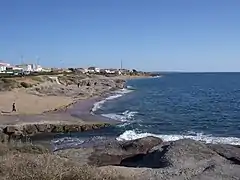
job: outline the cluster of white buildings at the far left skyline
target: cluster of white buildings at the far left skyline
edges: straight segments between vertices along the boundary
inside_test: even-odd
[[[32,72],[46,72],[49,71],[47,69],[42,68],[42,66],[37,64],[19,64],[19,65],[11,65],[9,63],[5,63],[0,61],[0,73],[7,74],[29,74]]]

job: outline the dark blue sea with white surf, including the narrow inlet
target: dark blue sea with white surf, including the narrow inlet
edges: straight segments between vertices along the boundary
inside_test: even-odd
[[[52,140],[55,150],[146,136],[240,145],[240,73],[169,73],[132,79],[124,89],[96,102],[92,111],[117,124],[60,135]]]

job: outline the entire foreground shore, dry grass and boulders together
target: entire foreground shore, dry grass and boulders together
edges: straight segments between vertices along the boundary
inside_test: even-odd
[[[30,144],[6,147],[0,143],[0,157],[0,175],[8,179],[16,176],[49,180],[62,176],[73,180],[240,179],[238,146],[191,139],[163,142],[151,136],[132,141],[106,138],[54,152]]]

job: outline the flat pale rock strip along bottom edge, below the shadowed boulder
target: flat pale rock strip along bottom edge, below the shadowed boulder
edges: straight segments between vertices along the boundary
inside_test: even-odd
[[[209,166],[201,171],[174,168],[131,168],[104,166],[98,169],[114,174],[124,174],[137,180],[239,180],[240,171],[236,165]]]

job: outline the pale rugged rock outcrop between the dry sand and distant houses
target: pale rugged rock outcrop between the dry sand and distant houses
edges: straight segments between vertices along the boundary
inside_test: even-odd
[[[124,88],[125,80],[121,78],[107,78],[104,76],[78,77],[59,76],[59,83],[46,81],[27,90],[28,93],[38,96],[66,96],[66,97],[92,97],[110,91]]]

